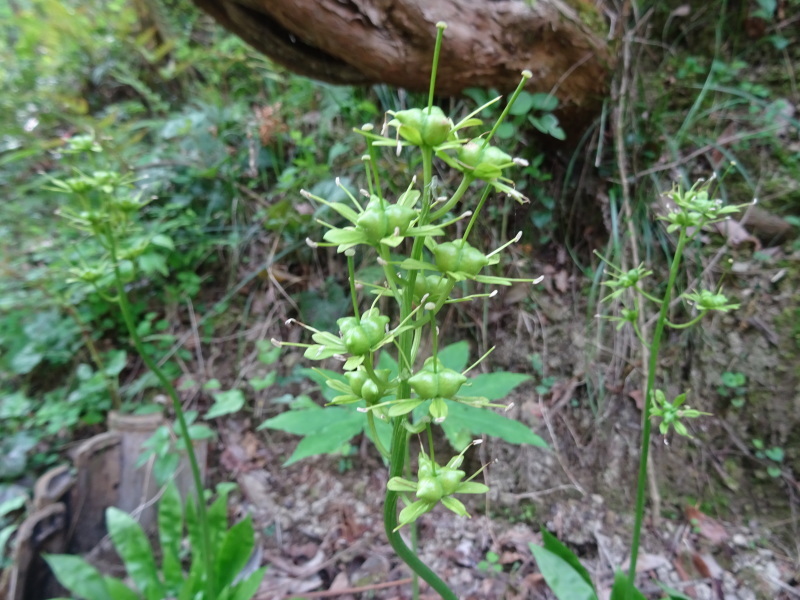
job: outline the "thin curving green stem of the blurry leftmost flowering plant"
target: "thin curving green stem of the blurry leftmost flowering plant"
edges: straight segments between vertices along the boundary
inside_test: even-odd
[[[181,406],[181,401],[178,398],[178,393],[175,391],[175,387],[164,374],[164,371],[162,371],[158,366],[156,361],[154,361],[150,354],[145,350],[144,344],[142,343],[142,338],[136,331],[136,324],[133,320],[133,311],[131,310],[131,305],[128,301],[128,296],[125,291],[125,284],[122,281],[122,275],[119,272],[116,244],[113,234],[108,233],[107,239],[109,241],[111,262],[114,265],[114,283],[116,284],[117,288],[117,301],[119,303],[120,313],[122,313],[122,319],[125,321],[125,327],[128,329],[128,333],[131,336],[131,342],[133,342],[133,347],[141,357],[142,362],[144,362],[145,366],[156,376],[156,379],[158,379],[159,383],[170,397],[170,400],[172,400],[172,407],[175,411],[175,416],[178,419],[178,428],[181,432],[181,438],[183,439],[184,445],[186,446],[186,454],[189,457],[189,466],[191,467],[195,494],[197,496],[197,516],[198,520],[200,521],[200,532],[203,539],[203,558],[205,559],[206,569],[206,594],[207,598],[216,598],[216,582],[212,576],[214,572],[214,556],[212,555],[211,548],[211,533],[208,528],[206,500],[203,495],[203,479],[200,475],[200,465],[197,462],[197,456],[194,453],[192,440],[189,436],[189,426],[186,423],[186,418],[183,414],[183,407]]]

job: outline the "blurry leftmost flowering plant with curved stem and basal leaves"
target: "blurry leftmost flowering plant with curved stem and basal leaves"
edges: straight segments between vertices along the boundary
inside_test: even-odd
[[[91,136],[75,136],[67,142],[65,153],[84,158],[91,165],[94,159],[102,156],[103,148]],[[181,449],[186,451],[189,459],[196,497],[194,504],[196,516],[190,523],[194,528],[193,535],[190,537],[193,547],[196,549],[196,561],[193,573],[189,578],[191,585],[182,588],[180,597],[247,600],[255,593],[263,571],[260,571],[259,575],[244,587],[231,583],[237,572],[229,568],[226,570],[231,565],[226,565],[225,561],[232,554],[230,549],[218,547],[223,538],[213,531],[214,523],[211,522],[213,515],[209,515],[206,507],[200,465],[192,443],[192,440],[198,439],[198,437],[208,437],[208,430],[192,425],[196,414],[184,412],[175,386],[152,353],[145,348],[129,297],[131,290],[128,284],[140,274],[168,274],[166,259],[161,252],[174,250],[174,242],[164,233],[144,225],[140,213],[147,206],[149,200],[143,198],[142,190],[136,189],[134,177],[101,169],[87,172],[74,169],[73,173],[71,177],[51,179],[49,188],[66,195],[67,201],[58,210],[58,214],[82,234],[81,243],[91,250],[80,253],[80,262],[69,269],[68,281],[88,286],[106,302],[119,309],[130,335],[131,344],[171,400],[177,420],[178,443]],[[354,340],[351,343],[352,347],[358,345],[360,335],[372,339],[370,337],[371,330],[368,328],[356,327],[355,329],[358,329],[358,332],[351,336]],[[232,412],[231,409],[220,410],[220,405],[219,402],[215,404],[206,414],[206,418]],[[115,408],[120,408],[119,404]],[[174,502],[168,504],[174,506]],[[224,507],[221,510],[224,510]],[[118,512],[111,511],[109,513],[109,529],[112,529],[112,536],[115,529],[124,530],[127,533],[120,534],[122,546],[133,546],[134,549],[141,550],[140,542],[144,534],[130,533],[131,528],[127,526],[128,520],[129,517],[126,518],[120,516]],[[114,525],[112,526],[112,524]],[[252,526],[249,522],[246,524],[246,528],[249,528],[250,538],[252,538]],[[241,527],[234,526],[231,531],[241,533]],[[231,543],[240,544],[242,539]],[[131,542],[131,540],[133,541]],[[117,539],[115,539],[115,543],[117,543]],[[121,550],[120,543],[117,543],[117,548]],[[150,550],[149,547],[147,550]],[[132,559],[127,564],[129,574],[133,579],[136,579],[133,571],[141,570],[142,565],[152,562],[147,558],[147,554],[147,552],[139,552],[138,556],[133,557],[135,560]],[[71,576],[70,571],[80,566],[80,559],[75,557],[51,558],[60,565],[60,568],[56,569],[57,575],[60,578],[66,578],[62,579],[66,587],[73,589],[73,585],[77,586],[82,590],[80,595],[83,597],[98,599],[140,597],[136,592],[127,589],[122,582],[111,578],[102,578],[88,566],[81,571],[86,577],[75,577],[74,574]],[[237,555],[237,560],[239,558],[241,556]],[[216,563],[221,563],[221,566]],[[52,561],[51,565],[54,565],[55,568],[55,563]],[[141,597],[147,599],[166,597],[166,592],[161,588],[163,582],[159,581],[155,573],[151,573],[151,575],[153,577],[147,578],[147,581],[141,584],[139,581],[136,582]],[[86,581],[83,581],[84,579]],[[89,583],[87,584],[87,582]],[[86,587],[87,585],[88,587]],[[172,593],[168,595],[173,596]]]

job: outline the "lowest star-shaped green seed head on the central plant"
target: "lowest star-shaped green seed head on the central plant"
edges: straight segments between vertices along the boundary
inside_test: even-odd
[[[489,491],[485,484],[472,481],[483,470],[482,468],[466,480],[464,479],[466,472],[459,468],[464,462],[464,453],[475,443],[480,442],[468,445],[445,466],[440,466],[427,455],[420,454],[417,481],[403,477],[392,477],[389,480],[387,487],[390,490],[413,493],[418,498],[400,511],[395,531],[430,512],[439,502],[457,515],[469,518],[466,507],[460,500],[454,498],[453,494],[485,494]]]

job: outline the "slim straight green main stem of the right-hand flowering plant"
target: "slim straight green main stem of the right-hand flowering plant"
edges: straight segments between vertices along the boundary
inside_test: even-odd
[[[678,238],[678,245],[675,248],[675,256],[672,258],[672,265],[669,270],[669,281],[667,282],[667,289],[664,293],[664,299],[661,302],[661,311],[658,315],[655,330],[653,331],[653,340],[650,344],[650,360],[647,369],[647,387],[644,396],[644,411],[642,414],[642,440],[641,440],[641,453],[639,455],[639,478],[636,486],[636,513],[633,525],[633,539],[631,540],[631,560],[630,568],[628,569],[628,588],[629,600],[633,598],[634,579],[636,577],[636,562],[639,558],[639,543],[642,535],[642,523],[644,521],[644,503],[647,493],[647,458],[650,452],[650,431],[652,429],[652,422],[650,419],[651,404],[653,395],[653,388],[655,386],[656,369],[658,368],[658,351],[661,346],[661,336],[664,333],[664,327],[667,323],[667,311],[669,310],[669,303],[672,297],[672,290],[675,287],[675,280],[678,277],[678,269],[681,263],[681,256],[683,249],[686,245],[686,232],[681,230],[680,237]]]

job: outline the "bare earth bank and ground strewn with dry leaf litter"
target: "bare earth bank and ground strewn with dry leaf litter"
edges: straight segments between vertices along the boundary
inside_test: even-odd
[[[800,253],[777,246],[755,257],[752,248],[728,252],[726,292],[742,308],[664,347],[670,391],[691,390],[691,405],[711,416],[692,422],[691,439],[657,436],[652,445],[657,499],[639,560],[641,587],[652,598],[663,597],[661,584],[698,600],[800,596]],[[695,258],[708,265],[714,254]],[[625,358],[632,341],[593,318],[585,294],[591,282],[558,255],[539,265],[548,279],[535,303],[512,289],[489,323],[498,346],[492,368],[530,372],[531,356],[542,357],[537,380],[509,400],[551,449],[488,440],[473,466],[491,463],[491,492],[468,503],[473,518],[439,508],[419,522],[422,557],[464,600],[549,598],[529,549],[542,527],[588,561],[601,598],[628,559],[639,365]],[[726,372],[745,378],[739,407],[722,383]],[[387,470],[371,445],[282,468],[296,438],[240,421],[220,431],[218,475],[239,483],[240,510],[265,533],[263,561],[271,566],[259,598],[410,597],[409,572],[383,533]],[[784,450],[777,473],[754,439]],[[422,589],[423,598],[435,597]]]

